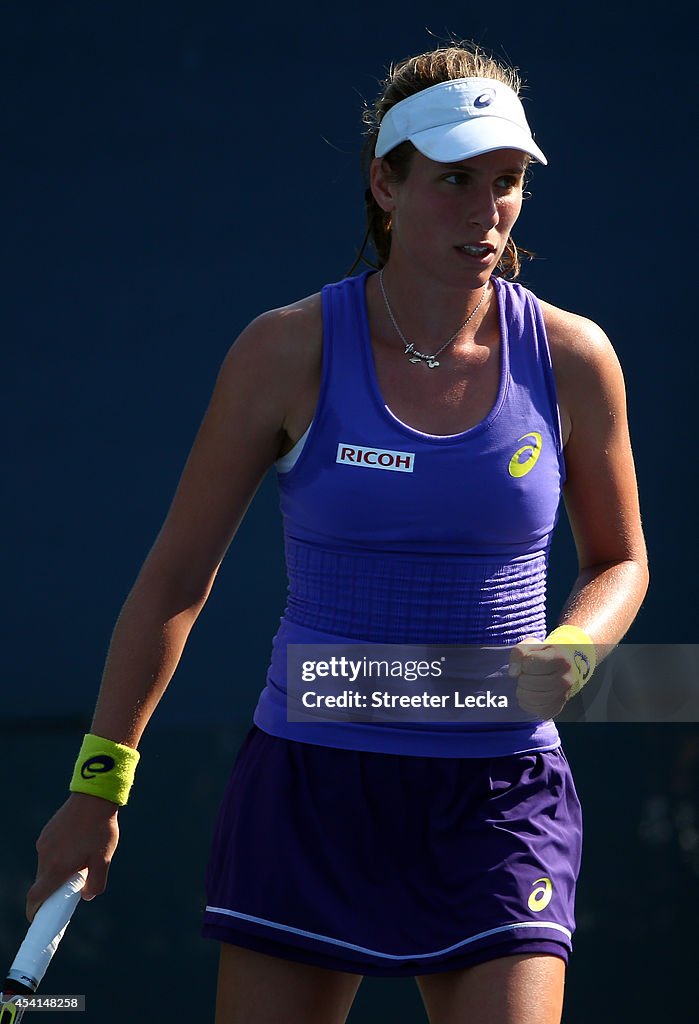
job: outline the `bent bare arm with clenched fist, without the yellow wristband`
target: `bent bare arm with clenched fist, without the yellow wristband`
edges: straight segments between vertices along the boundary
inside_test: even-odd
[[[564,500],[579,567],[559,623],[582,629],[602,658],[634,622],[649,580],[625,389],[616,353],[597,325],[553,306],[544,312],[565,441]],[[519,663],[522,707],[541,717],[558,714],[573,682],[569,660],[560,650],[529,648]]]

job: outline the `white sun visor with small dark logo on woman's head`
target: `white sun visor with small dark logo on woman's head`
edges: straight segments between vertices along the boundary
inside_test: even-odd
[[[517,94],[490,78],[456,78],[401,99],[384,115],[376,155],[384,157],[406,141],[440,164],[493,150],[521,150],[549,163]]]

